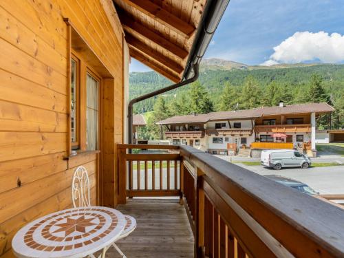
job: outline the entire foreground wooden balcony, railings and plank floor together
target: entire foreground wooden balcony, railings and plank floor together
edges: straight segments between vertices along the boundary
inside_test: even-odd
[[[128,153],[128,149],[147,148],[166,153]],[[179,153],[171,154],[171,149]],[[343,209],[208,153],[189,146],[119,144],[118,171],[118,201],[123,204],[119,207],[138,216],[142,228],[153,230],[147,234],[138,230],[130,238],[131,245],[123,241],[128,252],[141,246],[140,257],[160,257],[155,241],[161,239],[175,241],[171,250],[162,249],[161,257],[188,257],[186,253],[173,256],[173,252],[179,246],[190,253],[184,241],[188,246],[192,241],[187,234],[176,240],[171,230],[164,230],[177,218],[167,209],[169,214],[161,212],[161,216],[171,221],[151,224],[152,218],[161,218],[158,213],[164,204],[155,210],[147,201],[134,199],[138,203],[133,204],[127,197],[179,197],[189,217],[194,257],[344,257]],[[185,214],[180,206],[175,209]],[[147,222],[144,216],[149,218]],[[180,222],[184,220],[180,218]],[[157,232],[155,239],[151,234]]]

